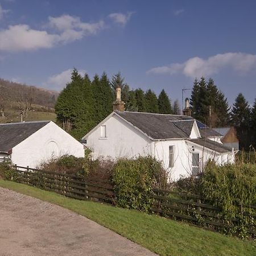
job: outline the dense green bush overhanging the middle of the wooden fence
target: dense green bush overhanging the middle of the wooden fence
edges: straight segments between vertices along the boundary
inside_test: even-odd
[[[167,175],[151,156],[119,159],[113,168],[117,205],[147,212],[152,205],[152,188],[164,188]]]

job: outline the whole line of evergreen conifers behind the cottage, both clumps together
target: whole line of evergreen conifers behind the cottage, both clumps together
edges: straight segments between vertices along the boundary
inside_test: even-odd
[[[161,114],[181,114],[179,102],[171,104],[167,93],[162,90],[159,96],[148,89],[130,89],[120,73],[111,80],[104,72],[95,75],[91,81],[87,74],[82,77],[73,70],[71,82],[60,93],[55,105],[57,121],[75,138],[80,139],[113,111],[115,88],[121,86],[121,99],[125,110]],[[209,127],[234,126],[241,148],[256,146],[256,100],[250,108],[245,97],[238,94],[232,108],[228,100],[214,84],[213,79],[193,82],[190,98],[192,117]]]

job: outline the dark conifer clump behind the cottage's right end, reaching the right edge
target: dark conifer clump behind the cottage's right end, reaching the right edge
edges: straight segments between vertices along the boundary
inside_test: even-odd
[[[209,127],[234,126],[241,149],[249,150],[250,146],[256,146],[256,99],[250,107],[243,94],[239,93],[230,108],[213,79],[206,81],[201,77],[193,83],[190,103],[192,116]]]

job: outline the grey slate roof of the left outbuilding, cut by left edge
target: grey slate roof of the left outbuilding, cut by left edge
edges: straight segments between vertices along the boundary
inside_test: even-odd
[[[0,124],[0,152],[8,152],[51,121]]]

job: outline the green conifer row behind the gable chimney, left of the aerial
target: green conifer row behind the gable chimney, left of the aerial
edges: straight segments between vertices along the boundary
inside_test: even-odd
[[[82,77],[74,69],[69,82],[59,94],[55,104],[57,121],[75,138],[80,139],[113,111],[115,88],[121,86],[121,100],[125,110],[162,114],[180,114],[179,102],[171,104],[162,90],[159,96],[148,89],[130,89],[120,73],[108,79],[104,72],[91,81],[87,74]]]

